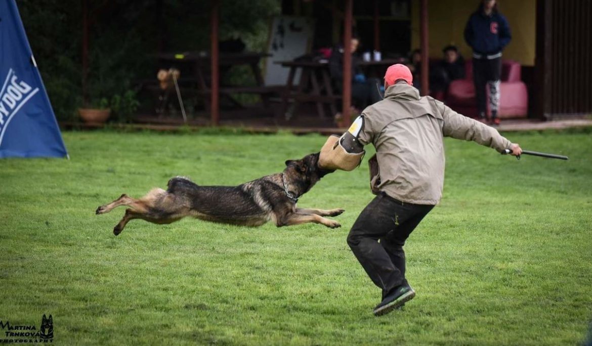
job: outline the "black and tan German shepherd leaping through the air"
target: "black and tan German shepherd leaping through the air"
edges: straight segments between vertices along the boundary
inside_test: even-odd
[[[264,176],[239,186],[199,186],[185,177],[169,180],[168,189],[155,188],[140,198],[121,195],[99,206],[96,214],[105,214],[120,205],[128,207],[123,219],[113,228],[118,235],[133,219],[153,224],[170,224],[185,216],[224,224],[260,226],[273,221],[277,227],[315,222],[330,228],[339,222],[323,216],[336,216],[343,209],[302,209],[296,202],[314,184],[333,170],[317,165],[318,153],[301,160],[288,160],[282,173]]]

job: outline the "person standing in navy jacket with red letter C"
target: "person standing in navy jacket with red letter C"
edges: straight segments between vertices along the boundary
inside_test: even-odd
[[[473,48],[473,80],[481,121],[500,124],[501,51],[510,43],[510,25],[497,10],[496,0],[481,0],[465,27],[465,41]],[[491,119],[486,118],[485,85],[489,84]]]

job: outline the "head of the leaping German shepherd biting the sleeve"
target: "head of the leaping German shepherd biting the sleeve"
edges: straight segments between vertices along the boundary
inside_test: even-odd
[[[300,160],[287,160],[284,174],[288,177],[292,185],[297,185],[300,194],[304,194],[322,177],[334,170],[321,169],[318,167],[318,154],[308,154]]]

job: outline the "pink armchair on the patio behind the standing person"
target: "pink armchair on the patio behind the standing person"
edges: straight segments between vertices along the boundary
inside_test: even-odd
[[[521,80],[520,69],[520,63],[513,60],[502,60],[501,62],[500,108],[497,112],[500,119],[526,118],[527,116],[528,92],[526,84]],[[465,62],[465,76],[465,79],[453,80],[450,83],[445,102],[456,112],[475,118],[477,117],[477,101],[475,101],[471,59]],[[488,91],[487,113],[491,114]]]

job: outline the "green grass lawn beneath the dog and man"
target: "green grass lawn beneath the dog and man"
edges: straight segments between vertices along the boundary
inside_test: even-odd
[[[447,139],[444,197],[406,245],[417,296],[375,318],[379,289],[346,244],[374,197],[365,162],[298,203],[346,209],[337,229],[134,220],[115,237],[124,208],[95,215],[176,175],[238,185],[279,172],[324,137],[64,132],[70,160],[0,160],[0,320],[39,328],[52,314],[60,345],[581,344],[592,318],[592,135],[506,135],[570,160],[517,161]]]

